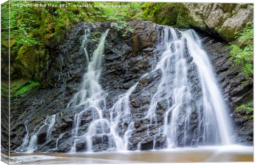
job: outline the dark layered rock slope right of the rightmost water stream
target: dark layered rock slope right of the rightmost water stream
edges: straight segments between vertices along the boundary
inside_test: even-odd
[[[253,79],[247,80],[239,74],[241,68],[229,60],[231,55],[228,44],[203,33],[201,33],[201,38],[202,45],[212,62],[224,100],[227,102],[236,134],[237,140],[235,141],[253,145],[253,119],[250,114],[253,111],[241,114],[242,112],[239,112],[241,109],[238,111],[234,109],[253,100]]]

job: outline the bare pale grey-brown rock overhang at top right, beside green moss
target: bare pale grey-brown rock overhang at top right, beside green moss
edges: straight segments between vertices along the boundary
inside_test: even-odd
[[[253,21],[251,4],[183,3],[179,12],[179,26],[199,28],[228,42],[235,39],[235,32]]]

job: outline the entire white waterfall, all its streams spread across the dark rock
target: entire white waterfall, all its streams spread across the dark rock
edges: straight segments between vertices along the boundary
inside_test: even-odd
[[[145,119],[151,119],[146,138],[153,136],[152,149],[157,149],[156,141],[160,134],[166,137],[164,147],[167,148],[230,144],[225,103],[214,78],[211,63],[206,52],[201,48],[199,37],[194,30],[178,31],[168,26],[158,26],[157,31],[158,43],[154,50],[151,72],[161,70],[161,80],[144,116]],[[113,107],[106,109],[107,93],[100,85],[100,76],[104,42],[108,32],[109,30],[106,30],[102,34],[92,54],[87,51],[90,29],[85,29],[81,37],[87,70],[83,76],[81,90],[67,105],[68,108],[80,109],[82,107],[82,111],[76,114],[73,120],[72,138],[74,142],[71,152],[77,151],[77,142],[81,140],[85,142],[83,151],[95,151],[95,145],[105,145],[108,151],[129,150],[131,137],[136,130],[137,119],[130,112],[130,96],[148,74],[140,77],[126,93],[117,96]],[[164,109],[162,123],[152,135],[149,128],[158,122],[156,109],[159,102],[166,102],[167,107]],[[86,129],[81,131],[84,126],[81,119],[87,112],[92,116],[92,120],[83,123],[86,124]],[[109,113],[109,118],[105,116],[105,112]],[[35,151],[38,146],[38,133],[45,125],[47,125],[46,142],[48,142],[52,137],[54,123],[55,115],[48,116],[44,124],[38,125],[40,128],[36,127],[31,135],[28,134],[26,127],[27,134],[23,143],[15,151]],[[63,135],[57,138],[55,148],[52,147],[48,151],[58,148],[59,139],[62,139]],[[142,140],[139,140],[137,150],[142,148]]]

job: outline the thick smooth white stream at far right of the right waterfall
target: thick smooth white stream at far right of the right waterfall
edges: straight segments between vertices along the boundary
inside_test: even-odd
[[[230,126],[228,124],[229,120],[226,114],[227,109],[225,107],[225,102],[223,101],[222,93],[220,92],[214,77],[210,60],[206,52],[201,49],[200,39],[194,30],[187,30],[183,33],[183,35],[187,39],[190,55],[193,57],[194,63],[197,64],[199,70],[199,77],[204,98],[204,117],[206,121],[211,121],[212,118],[215,117],[215,123],[213,124],[217,125],[218,127],[222,144],[230,144],[231,135],[229,131]],[[207,131],[213,130],[208,128]]]

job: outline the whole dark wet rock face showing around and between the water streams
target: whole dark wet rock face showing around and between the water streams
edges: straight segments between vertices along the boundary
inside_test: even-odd
[[[35,131],[36,126],[43,125],[47,116],[56,114],[55,124],[52,127],[52,138],[46,142],[44,138],[46,130],[42,129],[39,133],[39,142],[36,152],[69,152],[73,147],[73,122],[76,114],[81,114],[81,125],[78,128],[79,136],[85,135],[92,121],[98,119],[95,115],[95,109],[90,108],[84,111],[84,107],[67,107],[73,95],[79,91],[83,75],[86,72],[86,58],[84,50],[81,47],[81,36],[84,35],[85,29],[90,28],[91,33],[100,31],[104,33],[109,30],[105,44],[104,62],[102,63],[102,72],[100,84],[107,93],[106,109],[102,114],[105,119],[110,119],[116,114],[110,114],[110,109],[116,101],[116,96],[125,93],[130,87],[138,82],[134,91],[131,93],[130,99],[130,116],[127,118],[134,121],[134,130],[131,131],[129,137],[128,149],[141,150],[161,149],[166,147],[166,135],[159,133],[164,122],[164,114],[171,104],[168,100],[162,99],[157,102],[156,118],[154,120],[145,118],[150,101],[161,81],[161,70],[152,71],[152,64],[155,63],[154,49],[157,44],[156,31],[159,28],[156,24],[147,21],[135,20],[128,23],[134,29],[133,33],[122,36],[123,33],[116,27],[111,27],[110,23],[78,23],[71,28],[69,34],[62,45],[56,46],[55,54],[49,62],[49,86],[37,86],[34,90],[21,95],[17,100],[11,100],[11,144],[10,148],[14,149],[22,144],[22,140],[27,134],[25,125],[27,126],[29,138],[31,133]],[[97,36],[100,37],[100,36]],[[180,36],[179,36],[180,37]],[[203,46],[209,54],[213,63],[213,69],[220,83],[225,100],[230,106],[230,114],[234,112],[234,105],[246,99],[252,93],[252,80],[250,83],[244,83],[240,86],[244,77],[238,75],[239,69],[233,66],[228,59],[228,49],[224,42],[219,42],[211,37],[201,33]],[[88,43],[88,52],[96,48],[95,42]],[[186,50],[187,51],[187,50]],[[161,52],[159,52],[161,53]],[[192,57],[185,52],[188,66],[188,80],[190,84],[198,84],[199,77],[197,67],[192,62]],[[149,73],[150,72],[150,73]],[[170,72],[173,72],[171,70]],[[142,78],[142,75],[147,74]],[[190,102],[191,109],[200,109],[201,88],[198,85],[190,86],[192,98],[195,101]],[[193,92],[192,92],[193,91]],[[163,93],[164,94],[164,93]],[[171,98],[170,98],[171,100]],[[183,106],[185,109],[185,105]],[[191,112],[190,130],[194,130],[198,123],[198,115],[194,111]],[[182,111],[181,111],[182,112]],[[184,130],[184,116],[180,114],[179,129],[180,133]],[[240,115],[237,117],[233,114],[233,120],[237,123],[236,129],[243,143],[252,144],[252,124],[251,120],[244,120]],[[38,128],[37,128],[38,129]],[[109,127],[103,125],[104,133],[109,132]],[[124,119],[118,124],[119,136],[124,137],[125,131],[128,129],[128,122]],[[100,130],[95,130],[100,131]],[[99,132],[100,133],[100,132]],[[181,135],[181,134],[180,134]],[[176,137],[181,139],[179,135]],[[190,142],[193,137],[186,140]],[[92,138],[93,151],[106,151],[114,144],[109,143],[109,139],[113,139],[111,134],[103,134],[102,136],[94,136]],[[86,151],[87,141],[78,139],[76,141],[76,151]],[[179,146],[185,146],[181,140],[178,140]],[[57,146],[57,147],[56,147]]]

